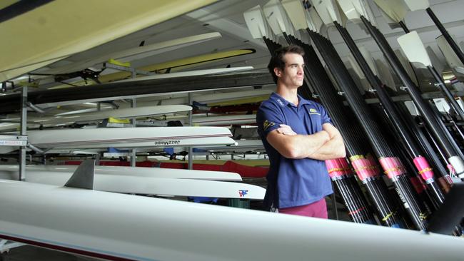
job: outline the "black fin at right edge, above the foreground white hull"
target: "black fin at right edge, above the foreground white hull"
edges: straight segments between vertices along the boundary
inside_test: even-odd
[[[445,196],[445,202],[434,213],[428,225],[428,232],[452,235],[464,217],[464,183],[454,183]]]

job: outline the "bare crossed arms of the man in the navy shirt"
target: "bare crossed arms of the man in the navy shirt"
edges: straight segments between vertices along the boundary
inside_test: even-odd
[[[312,158],[331,160],[345,158],[345,144],[340,132],[330,123],[324,123],[323,131],[311,135],[296,134],[290,126],[281,124],[280,128],[268,134],[268,142],[286,158]]]

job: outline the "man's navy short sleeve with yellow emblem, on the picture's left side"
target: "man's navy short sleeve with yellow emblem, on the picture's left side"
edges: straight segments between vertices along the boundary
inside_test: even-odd
[[[269,102],[261,103],[256,113],[256,124],[261,138],[266,138],[271,131],[279,128],[280,124],[285,124],[285,118],[281,109]]]

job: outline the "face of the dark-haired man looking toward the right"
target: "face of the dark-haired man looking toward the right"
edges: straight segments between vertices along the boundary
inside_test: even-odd
[[[298,53],[286,53],[283,56],[285,67],[283,71],[279,68],[274,68],[279,83],[288,88],[298,88],[303,85],[304,78],[304,60],[303,56]]]

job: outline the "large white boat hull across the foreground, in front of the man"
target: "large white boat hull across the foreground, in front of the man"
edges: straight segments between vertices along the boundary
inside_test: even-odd
[[[0,180],[0,237],[116,260],[462,260],[463,238]]]

